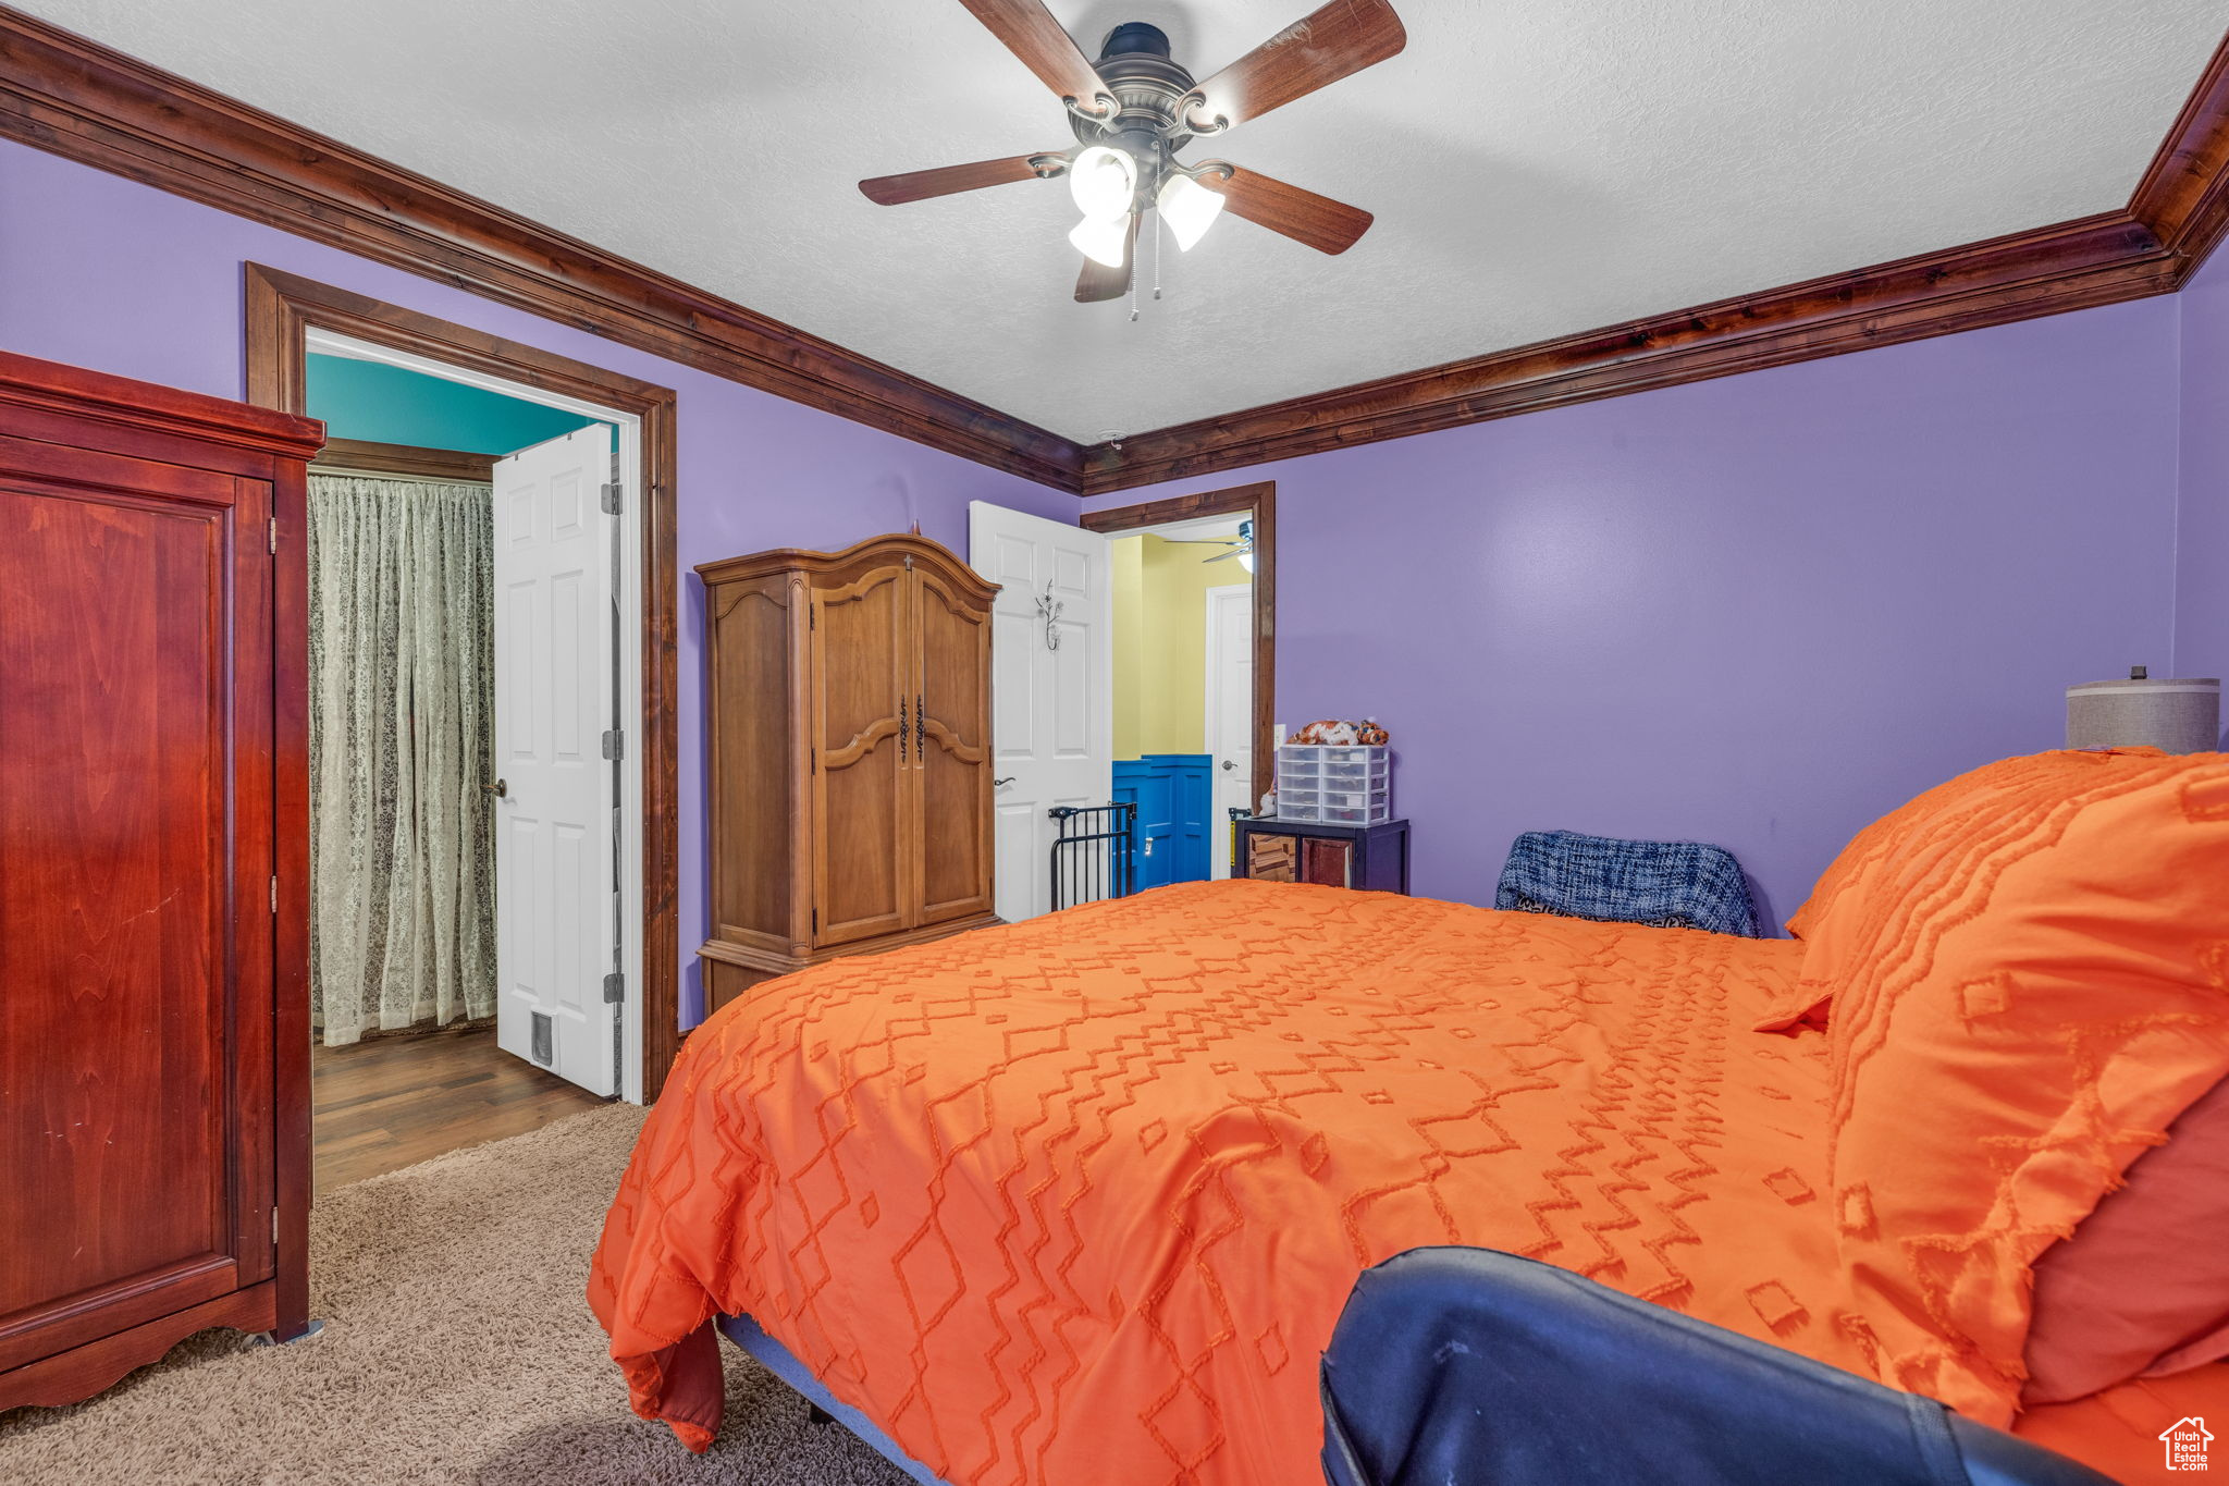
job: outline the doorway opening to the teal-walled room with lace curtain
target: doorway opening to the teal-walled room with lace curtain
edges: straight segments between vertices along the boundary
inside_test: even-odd
[[[330,332],[310,332],[308,412],[330,439],[308,481],[310,1067],[325,1190],[617,1092],[615,1011],[597,1003],[584,1027],[602,1047],[564,1045],[559,1032],[591,1020],[588,1007],[562,1005],[537,965],[504,965],[564,945],[553,925],[522,922],[548,893],[522,893],[517,880],[553,862],[515,849],[513,806],[526,798],[506,778],[519,740],[504,735],[537,726],[535,708],[553,700],[537,695],[535,662],[566,666],[553,655],[566,642],[582,646],[566,668],[604,697],[573,711],[611,720],[620,608],[600,590],[615,568],[595,564],[604,581],[588,595],[602,644],[580,633],[580,615],[551,613],[546,593],[535,633],[506,626],[524,615],[497,604],[546,588],[513,555],[542,532],[497,526],[548,524],[533,499],[542,463],[613,475],[617,428]],[[571,512],[575,528],[584,515]],[[591,577],[582,566],[575,581]],[[582,815],[602,829],[617,820],[617,780],[597,784],[588,811],[559,811],[575,829]],[[548,815],[551,804],[528,809]],[[611,933],[593,947],[617,969],[615,856],[602,871],[568,867],[580,889],[613,898]]]

